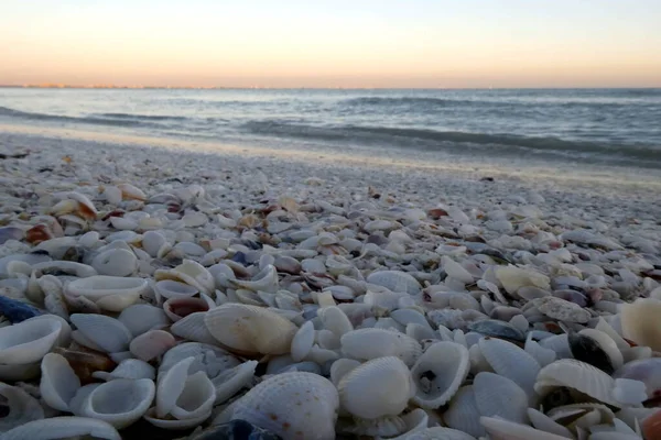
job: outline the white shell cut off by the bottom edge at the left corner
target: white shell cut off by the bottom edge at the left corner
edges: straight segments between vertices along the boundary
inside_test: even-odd
[[[2,435],[2,440],[74,439],[91,436],[96,439],[121,440],[110,424],[88,417],[53,417],[29,421]]]

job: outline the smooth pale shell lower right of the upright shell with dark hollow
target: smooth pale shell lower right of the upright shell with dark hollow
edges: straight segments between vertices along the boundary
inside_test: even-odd
[[[528,395],[513,381],[495,373],[478,373],[473,391],[480,415],[528,422]]]

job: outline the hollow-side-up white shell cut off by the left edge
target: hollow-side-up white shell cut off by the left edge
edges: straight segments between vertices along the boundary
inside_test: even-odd
[[[25,320],[0,328],[0,363],[39,362],[57,342],[62,323],[53,319]]]

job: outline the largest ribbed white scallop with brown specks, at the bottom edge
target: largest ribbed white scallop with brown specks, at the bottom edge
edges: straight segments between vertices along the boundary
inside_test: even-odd
[[[282,373],[237,400],[231,420],[246,420],[283,440],[335,440],[339,396],[335,386],[313,373]]]

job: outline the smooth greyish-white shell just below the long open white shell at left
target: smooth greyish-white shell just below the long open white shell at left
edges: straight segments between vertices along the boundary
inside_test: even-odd
[[[74,314],[72,322],[85,339],[107,353],[124,351],[132,338],[123,323],[105,315]]]

